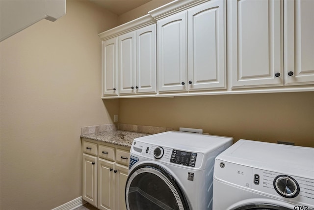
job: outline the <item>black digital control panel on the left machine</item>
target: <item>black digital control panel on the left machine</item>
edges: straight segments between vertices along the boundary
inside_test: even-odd
[[[184,166],[195,166],[197,153],[181,151],[181,150],[172,150],[170,162],[177,163]]]

